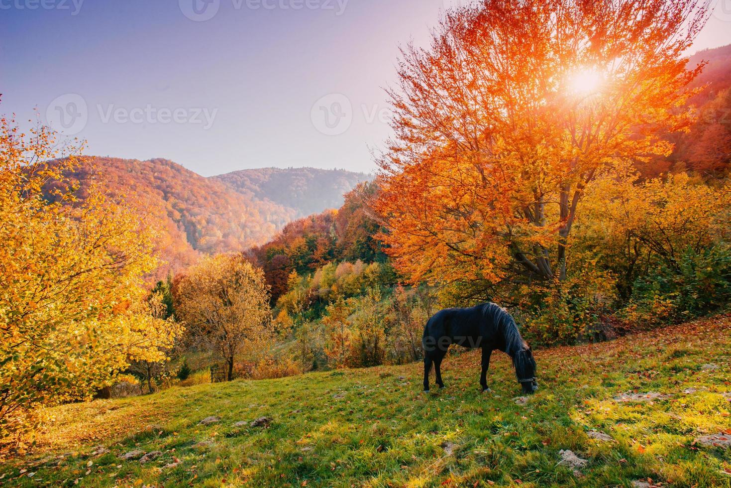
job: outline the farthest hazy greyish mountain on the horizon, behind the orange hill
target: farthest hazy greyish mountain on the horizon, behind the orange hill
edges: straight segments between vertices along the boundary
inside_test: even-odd
[[[340,208],[345,201],[343,195],[373,177],[346,170],[262,168],[235,171],[213,179],[247,198],[292,209],[299,218]]]

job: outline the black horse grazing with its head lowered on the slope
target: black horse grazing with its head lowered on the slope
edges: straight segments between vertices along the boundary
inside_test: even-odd
[[[493,303],[471,308],[452,308],[436,312],[424,327],[422,346],[424,350],[424,391],[429,391],[429,372],[434,364],[436,384],[442,382],[442,359],[450,345],[464,348],[482,348],[482,392],[490,391],[487,374],[493,350],[501,350],[512,358],[518,383],[523,393],[532,394],[538,389],[535,378],[536,361],[533,351],[520,337],[515,319],[504,308]]]

